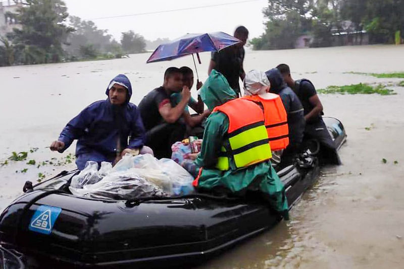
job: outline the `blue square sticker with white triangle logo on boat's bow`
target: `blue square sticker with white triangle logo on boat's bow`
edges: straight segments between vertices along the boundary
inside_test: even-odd
[[[32,216],[28,229],[37,233],[50,234],[61,212],[61,208],[40,206]]]

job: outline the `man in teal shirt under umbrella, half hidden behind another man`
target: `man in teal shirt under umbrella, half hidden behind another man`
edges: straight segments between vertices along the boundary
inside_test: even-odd
[[[180,68],[182,73],[182,84],[188,86],[189,89],[192,89],[193,86],[193,72],[188,66],[182,66]],[[199,90],[202,87],[202,82],[198,81],[196,84],[196,90]],[[173,105],[178,105],[181,102],[181,93],[173,93],[171,94],[171,101]],[[191,107],[197,114],[190,115],[188,106]],[[188,106],[185,107],[184,113],[182,117],[185,120],[187,125],[187,135],[186,136],[196,136],[198,138],[202,138],[204,135],[204,127],[203,122],[211,113],[209,109],[204,111],[204,102],[200,99],[200,95],[198,94],[198,101],[189,98]]]

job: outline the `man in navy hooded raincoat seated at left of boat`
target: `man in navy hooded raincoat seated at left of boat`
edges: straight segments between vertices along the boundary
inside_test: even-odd
[[[70,120],[59,139],[51,144],[52,151],[62,153],[77,139],[76,165],[80,170],[87,161],[114,163],[126,153],[153,154],[144,146],[145,130],[138,108],[129,102],[129,79],[116,76],[106,94],[106,100],[90,104]]]

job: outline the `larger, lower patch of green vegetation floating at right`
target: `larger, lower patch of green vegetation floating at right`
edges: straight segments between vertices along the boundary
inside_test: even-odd
[[[325,89],[317,90],[319,93],[325,94],[372,94],[377,93],[380,95],[392,95],[396,94],[393,90],[387,89],[384,85],[377,85],[375,87],[370,86],[368,84],[351,84],[345,86],[328,86]]]

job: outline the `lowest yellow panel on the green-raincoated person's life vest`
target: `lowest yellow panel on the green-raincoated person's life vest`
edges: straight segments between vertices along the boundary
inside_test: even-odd
[[[233,156],[237,168],[260,163],[272,157],[271,148],[268,143],[249,150],[243,151]]]

